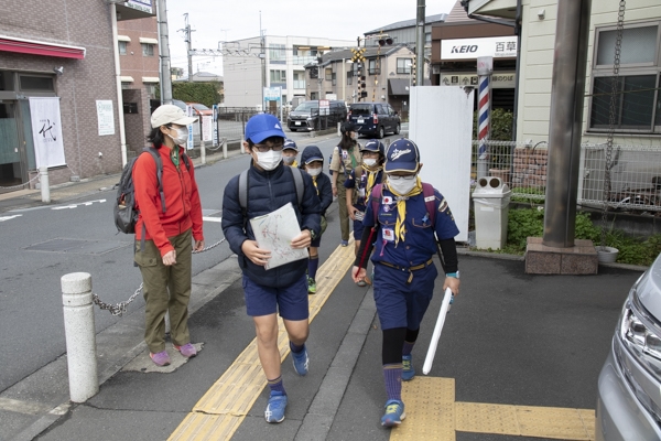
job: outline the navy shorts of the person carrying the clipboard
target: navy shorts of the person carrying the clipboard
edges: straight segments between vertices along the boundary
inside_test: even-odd
[[[310,309],[307,305],[307,277],[286,288],[271,288],[254,283],[243,276],[243,297],[248,315],[260,316],[280,312],[284,320],[307,320]]]

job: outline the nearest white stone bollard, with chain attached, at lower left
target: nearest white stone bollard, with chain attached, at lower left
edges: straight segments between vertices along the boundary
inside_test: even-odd
[[[84,402],[99,391],[91,276],[72,272],[62,276],[61,282],[69,396],[74,402]]]

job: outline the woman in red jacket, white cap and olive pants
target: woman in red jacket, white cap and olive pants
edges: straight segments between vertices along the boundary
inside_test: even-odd
[[[152,131],[148,140],[163,163],[162,192],[156,162],[151,154],[141,154],[133,165],[140,212],[136,224],[136,262],[142,273],[147,302],[144,341],[159,366],[170,364],[165,351],[166,312],[174,348],[186,358],[197,355],[188,332],[188,300],[192,251],[204,249],[202,205],[193,163],[184,158],[180,146],[188,138],[187,125],[196,120],[172,105],[159,107],[151,116]],[[164,205],[161,197],[165,198]]]

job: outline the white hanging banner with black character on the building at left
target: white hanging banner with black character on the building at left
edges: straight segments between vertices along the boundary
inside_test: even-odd
[[[40,166],[66,164],[58,97],[30,97],[34,159]]]

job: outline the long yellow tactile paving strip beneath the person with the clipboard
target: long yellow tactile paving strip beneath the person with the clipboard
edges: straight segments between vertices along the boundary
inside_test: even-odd
[[[310,321],[321,311],[354,262],[353,239],[348,247],[337,247],[317,271],[317,292],[310,295]],[[278,320],[278,345],[282,359],[288,356],[289,340],[282,320]],[[239,428],[246,415],[267,385],[253,340],[197,401],[169,440],[227,440]]]

